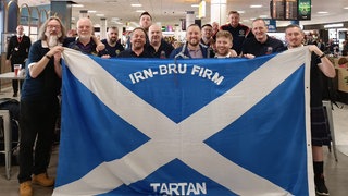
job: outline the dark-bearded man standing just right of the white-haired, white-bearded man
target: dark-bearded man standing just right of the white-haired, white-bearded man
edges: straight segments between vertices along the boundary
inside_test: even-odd
[[[99,52],[102,58],[115,58],[124,50],[119,42],[119,28],[116,26],[108,28],[107,39],[101,40],[101,42],[105,45],[105,49]]]

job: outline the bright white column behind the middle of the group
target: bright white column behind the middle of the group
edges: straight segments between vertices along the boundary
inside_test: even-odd
[[[211,0],[210,22],[217,22],[220,25],[226,24],[226,0]],[[213,13],[213,14],[212,14]]]

